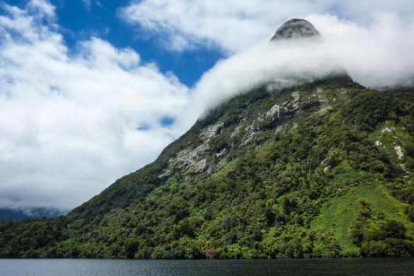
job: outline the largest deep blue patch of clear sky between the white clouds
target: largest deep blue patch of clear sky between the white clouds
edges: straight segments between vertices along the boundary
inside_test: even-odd
[[[12,3],[13,1],[7,1]],[[26,1],[19,1],[22,6]],[[86,6],[82,0],[53,0],[57,22],[68,47],[90,36],[108,40],[115,47],[131,47],[139,52],[143,62],[154,62],[166,73],[173,71],[183,84],[193,86],[200,76],[214,66],[224,54],[218,47],[202,47],[191,51],[166,51],[160,45],[162,35],[151,33],[131,25],[120,18],[119,9],[130,1],[91,1]]]

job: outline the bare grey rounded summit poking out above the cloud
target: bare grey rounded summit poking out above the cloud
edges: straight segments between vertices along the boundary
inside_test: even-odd
[[[283,23],[271,40],[318,37],[321,34],[314,25],[304,19],[291,19]]]

